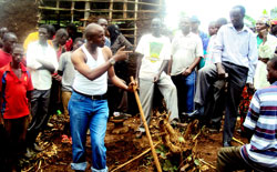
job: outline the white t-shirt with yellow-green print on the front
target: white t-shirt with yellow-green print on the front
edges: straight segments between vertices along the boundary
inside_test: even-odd
[[[171,59],[171,41],[164,36],[156,38],[145,34],[141,38],[135,51],[143,54],[138,77],[154,79],[163,61]]]

